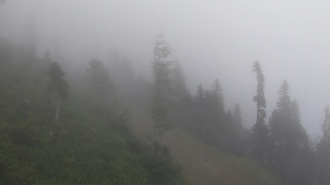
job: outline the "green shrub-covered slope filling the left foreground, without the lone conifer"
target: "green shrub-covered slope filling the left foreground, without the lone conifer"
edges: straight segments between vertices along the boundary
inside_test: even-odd
[[[0,63],[1,185],[183,183],[180,167],[141,145],[119,111],[111,121],[98,119],[73,82],[53,121],[54,105],[43,96],[47,68],[28,69],[14,59]]]

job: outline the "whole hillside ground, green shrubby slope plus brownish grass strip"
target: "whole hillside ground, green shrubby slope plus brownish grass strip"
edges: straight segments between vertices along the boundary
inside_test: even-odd
[[[27,68],[21,60],[12,56],[0,67],[0,184],[184,184],[177,164],[189,184],[281,184],[253,161],[180,128],[164,136],[175,162],[156,155],[150,143],[158,137],[147,110],[130,107],[134,136],[122,108],[113,105],[104,121],[77,79],[68,79],[69,100],[55,122],[54,105],[43,95],[47,66]]]

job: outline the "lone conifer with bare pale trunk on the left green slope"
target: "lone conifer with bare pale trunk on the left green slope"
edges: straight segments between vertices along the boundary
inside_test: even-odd
[[[67,100],[69,84],[63,79],[63,77],[66,76],[66,72],[63,71],[61,66],[56,62],[50,64],[48,74],[50,77],[45,95],[53,95],[56,99],[55,121],[57,121],[60,112],[60,100]]]

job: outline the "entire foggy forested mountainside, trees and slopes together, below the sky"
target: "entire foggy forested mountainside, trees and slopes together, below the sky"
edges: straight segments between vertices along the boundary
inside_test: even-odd
[[[28,18],[23,40],[0,35],[0,184],[330,184],[330,105],[310,123],[320,132],[309,134],[291,95],[296,84],[281,76],[277,96],[267,96],[267,61],[245,69],[256,85],[245,110],[241,98],[226,100],[230,82],[221,75],[191,83],[166,29],[149,38],[148,72],[138,75],[131,55],[116,47],[103,48],[106,59],[95,51],[70,62],[58,39],[54,49],[40,44],[47,40],[36,25]],[[242,116],[250,110],[252,126]],[[178,135],[182,141],[173,141]],[[204,177],[183,162],[201,159],[186,147],[200,147],[203,164],[232,162],[213,164],[227,172]]]

